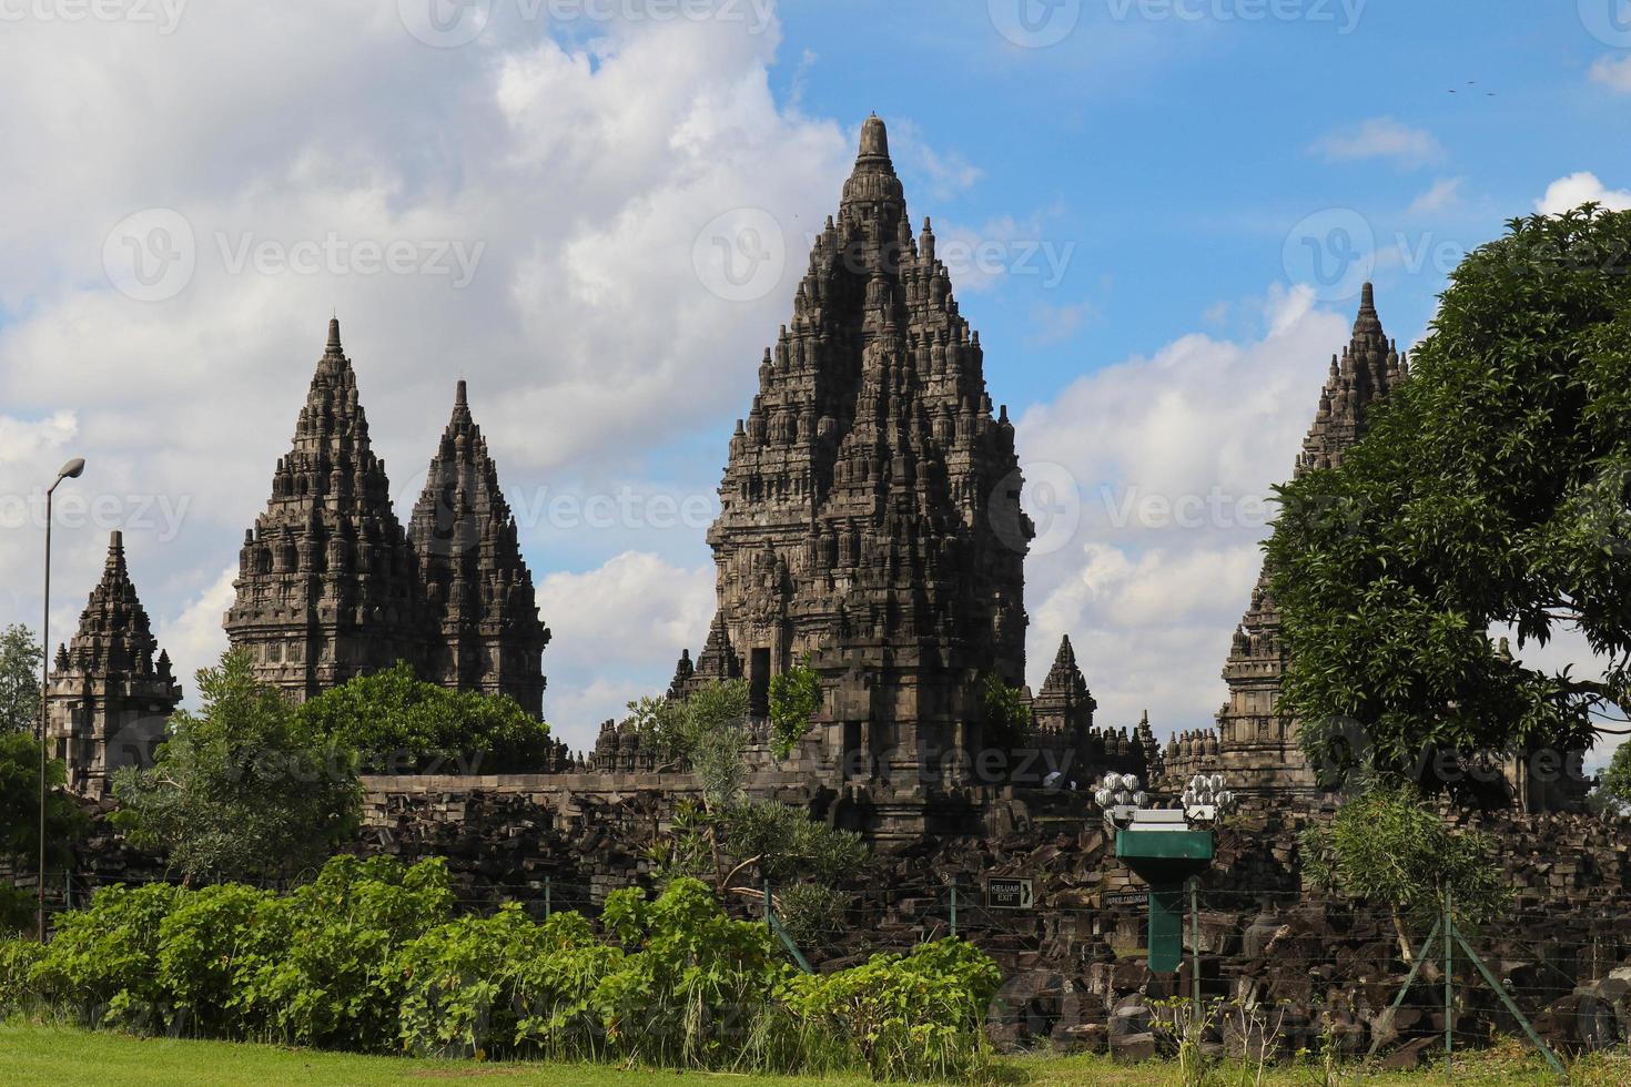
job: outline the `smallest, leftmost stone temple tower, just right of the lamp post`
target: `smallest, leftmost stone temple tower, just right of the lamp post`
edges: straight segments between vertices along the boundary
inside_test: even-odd
[[[57,647],[47,684],[46,727],[52,753],[67,761],[69,789],[99,800],[113,771],[148,764],[179,701],[170,655],[130,583],[124,536],[113,533],[103,580],[80,629]]]

